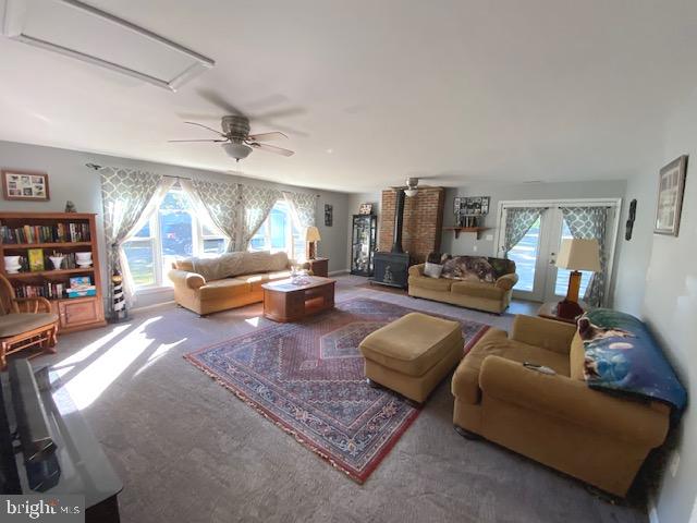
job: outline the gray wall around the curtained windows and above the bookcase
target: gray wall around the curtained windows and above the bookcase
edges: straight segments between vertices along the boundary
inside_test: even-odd
[[[261,180],[246,179],[224,173],[188,169],[166,163],[154,163],[112,156],[96,155],[76,150],[58,149],[54,147],[41,147],[12,142],[0,142],[0,169],[19,169],[28,171],[48,172],[50,197],[45,203],[7,202],[0,200],[0,210],[50,212],[62,211],[65,200],[71,199],[81,212],[96,212],[98,230],[102,229],[101,222],[101,188],[99,174],[85,167],[85,163],[102,166],[123,166],[134,169],[149,170],[172,177],[240,181],[254,185],[276,186],[282,190],[296,192],[311,192],[318,194],[317,224],[321,235],[319,254],[330,258],[329,270],[344,270],[346,266],[346,236],[347,224],[345,216],[348,206],[348,195],[329,191],[316,191],[311,188],[296,187],[292,185],[265,182]],[[325,204],[331,204],[334,211],[332,227],[325,227]],[[105,275],[106,246],[103,234],[99,234],[99,256],[102,262],[102,275]],[[107,289],[107,278],[102,276],[102,284]],[[105,292],[105,295],[107,293]],[[137,299],[136,306],[147,306],[173,299],[170,289],[160,292],[142,294]]]

